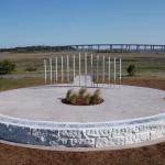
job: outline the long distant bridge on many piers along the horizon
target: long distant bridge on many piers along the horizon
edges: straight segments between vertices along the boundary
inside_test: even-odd
[[[142,52],[142,53],[165,53],[165,45],[150,44],[85,44],[55,46],[57,51],[69,52]]]

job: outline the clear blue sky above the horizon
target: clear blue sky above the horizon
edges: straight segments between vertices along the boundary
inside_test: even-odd
[[[0,48],[165,44],[165,0],[0,0]]]

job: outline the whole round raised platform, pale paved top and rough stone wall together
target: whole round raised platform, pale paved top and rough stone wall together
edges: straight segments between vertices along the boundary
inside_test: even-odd
[[[102,89],[105,102],[98,106],[62,103],[69,89],[62,86],[0,92],[0,140],[52,150],[132,147],[164,140],[165,91],[112,87]]]

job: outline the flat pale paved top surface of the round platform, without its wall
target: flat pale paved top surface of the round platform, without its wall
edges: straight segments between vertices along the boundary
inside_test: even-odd
[[[61,99],[68,89],[41,86],[0,92],[0,114],[54,122],[106,122],[165,112],[165,91],[157,89],[133,86],[105,88],[101,89],[105,102],[98,106],[63,103]]]

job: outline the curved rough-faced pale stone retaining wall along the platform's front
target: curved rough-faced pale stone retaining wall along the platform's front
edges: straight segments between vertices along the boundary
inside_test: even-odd
[[[100,123],[55,123],[0,116],[0,140],[21,144],[105,147],[165,138],[165,114]]]

